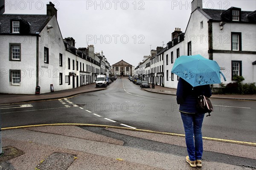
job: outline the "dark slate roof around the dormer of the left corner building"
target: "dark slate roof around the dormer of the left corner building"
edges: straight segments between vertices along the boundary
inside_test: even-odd
[[[11,32],[10,20],[23,20],[29,23],[29,34],[40,32],[51,19],[47,15],[33,14],[2,14],[0,15],[0,34],[9,34]]]

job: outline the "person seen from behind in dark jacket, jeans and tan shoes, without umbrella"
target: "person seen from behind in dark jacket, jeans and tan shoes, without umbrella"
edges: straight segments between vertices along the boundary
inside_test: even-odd
[[[192,87],[184,79],[179,78],[177,86],[177,104],[180,105],[179,111],[185,130],[186,147],[189,156],[186,156],[186,162],[191,167],[202,166],[203,138],[202,124],[205,113],[198,113],[196,110],[197,96],[212,95],[210,85],[201,85]],[[195,139],[194,137],[195,136]]]

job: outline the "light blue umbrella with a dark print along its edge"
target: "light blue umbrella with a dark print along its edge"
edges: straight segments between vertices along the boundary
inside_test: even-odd
[[[184,79],[193,87],[199,85],[219,84],[221,75],[220,66],[216,61],[206,59],[201,55],[180,56],[175,60],[172,73]]]

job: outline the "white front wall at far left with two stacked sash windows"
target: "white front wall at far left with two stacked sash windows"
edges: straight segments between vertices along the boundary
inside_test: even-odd
[[[35,94],[36,37],[0,35],[0,93]],[[9,61],[9,43],[20,43],[21,61]],[[20,85],[9,82],[9,70],[21,70]]]

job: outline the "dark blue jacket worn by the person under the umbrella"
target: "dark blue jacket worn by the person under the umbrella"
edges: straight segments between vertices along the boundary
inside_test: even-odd
[[[204,95],[212,96],[210,85],[200,85],[192,87],[188,82],[179,78],[177,86],[177,103],[180,105],[180,112],[182,113],[197,113],[196,98]]]

